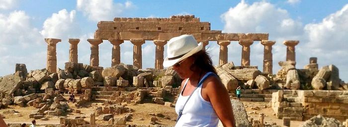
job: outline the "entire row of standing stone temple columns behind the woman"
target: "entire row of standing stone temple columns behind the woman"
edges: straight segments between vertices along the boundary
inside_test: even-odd
[[[61,42],[61,39],[45,38],[47,43],[47,65],[46,68],[49,72],[56,72],[57,68],[57,56],[56,56],[56,44]],[[99,66],[99,44],[103,41],[101,39],[87,39],[90,43],[90,66]],[[69,62],[78,63],[78,43],[80,39],[69,39]],[[109,39],[109,42],[113,45],[112,47],[112,59],[111,66],[115,66],[121,63],[121,48],[123,40]],[[133,66],[142,68],[142,50],[141,45],[145,43],[143,39],[130,39],[133,44]],[[203,49],[208,45],[209,41],[203,42]],[[219,65],[227,63],[228,48],[227,46],[231,43],[230,40],[219,40],[220,54],[219,54]],[[250,66],[250,46],[254,43],[253,40],[239,40],[239,44],[242,45],[242,60],[241,66]],[[295,61],[295,46],[299,41],[286,40],[283,42],[287,46],[286,50],[286,61]],[[156,56],[155,56],[155,68],[163,69],[164,61],[164,45],[167,44],[166,40],[154,40],[156,45]],[[263,52],[263,72],[272,74],[272,45],[275,41],[262,40],[261,44],[264,45]]]

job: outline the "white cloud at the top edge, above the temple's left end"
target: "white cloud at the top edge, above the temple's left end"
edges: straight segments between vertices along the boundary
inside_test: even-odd
[[[90,20],[113,20],[123,11],[134,8],[131,1],[125,3],[113,3],[112,0],[77,0],[77,8]]]

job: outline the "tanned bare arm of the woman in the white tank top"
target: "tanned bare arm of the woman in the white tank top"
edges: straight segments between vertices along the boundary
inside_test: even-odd
[[[231,100],[228,91],[217,77],[207,79],[205,91],[217,116],[224,127],[236,127]],[[203,95],[203,93],[202,93]]]

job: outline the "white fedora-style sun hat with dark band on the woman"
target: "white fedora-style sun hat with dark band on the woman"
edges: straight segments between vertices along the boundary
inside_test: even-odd
[[[203,49],[202,42],[197,43],[193,35],[181,35],[173,37],[167,43],[167,57],[163,66],[170,67],[175,63],[197,53]]]

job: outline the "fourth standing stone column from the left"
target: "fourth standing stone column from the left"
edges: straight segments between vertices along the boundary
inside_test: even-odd
[[[111,56],[111,67],[121,63],[121,47],[120,44],[123,43],[123,40],[118,39],[109,39],[112,47],[112,56]]]

